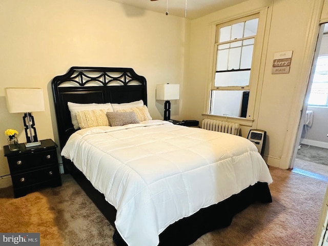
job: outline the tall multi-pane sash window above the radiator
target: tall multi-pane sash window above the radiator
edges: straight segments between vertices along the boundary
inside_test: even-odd
[[[256,14],[216,26],[210,114],[247,117],[258,22]]]

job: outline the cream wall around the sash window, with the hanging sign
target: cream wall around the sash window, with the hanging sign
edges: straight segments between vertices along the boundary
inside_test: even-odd
[[[316,34],[323,1],[312,0],[250,0],[192,20],[188,88],[182,113],[201,120],[207,113],[204,104],[208,100],[213,59],[213,25],[242,13],[269,7],[266,30],[267,41],[257,91],[254,122],[251,127],[242,126],[242,136],[250,129],[267,131],[264,158],[271,166],[287,169],[290,165],[300,118],[302,101],[308,83]],[[272,13],[272,16],[271,16]],[[293,51],[289,74],[271,74],[275,52]],[[187,84],[187,82],[186,82]],[[188,95],[193,95],[188,96]],[[200,103],[201,102],[201,103]],[[189,112],[186,113],[186,112]]]

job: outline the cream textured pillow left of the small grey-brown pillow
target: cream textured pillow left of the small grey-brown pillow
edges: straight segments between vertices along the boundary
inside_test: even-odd
[[[75,111],[80,129],[100,126],[110,126],[106,109]]]

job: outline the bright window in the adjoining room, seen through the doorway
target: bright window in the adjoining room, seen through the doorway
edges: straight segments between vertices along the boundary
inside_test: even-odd
[[[328,106],[328,55],[318,56],[308,105]]]

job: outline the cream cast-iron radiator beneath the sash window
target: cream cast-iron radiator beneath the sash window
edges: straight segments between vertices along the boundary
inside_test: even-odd
[[[215,119],[203,119],[201,124],[202,129],[224,132],[232,135],[239,135],[239,124],[227,121],[220,121]]]

